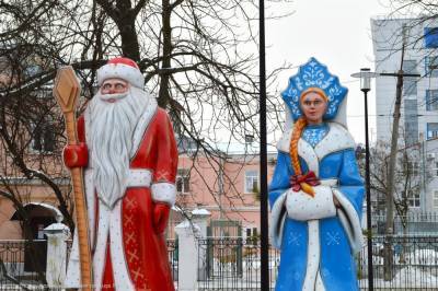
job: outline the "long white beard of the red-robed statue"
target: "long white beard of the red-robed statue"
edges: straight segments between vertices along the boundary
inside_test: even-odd
[[[104,101],[110,97],[116,102]],[[125,195],[132,135],[148,101],[145,91],[131,86],[126,94],[97,92],[89,104],[93,183],[97,197],[110,208]]]

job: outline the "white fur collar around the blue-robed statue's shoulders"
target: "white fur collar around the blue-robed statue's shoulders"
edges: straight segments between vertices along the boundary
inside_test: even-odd
[[[313,149],[307,141],[302,138],[298,141],[298,154],[304,159],[308,163],[309,168],[315,174],[319,172],[319,162],[328,153],[346,150],[346,149],[355,149],[356,143],[348,132],[348,130],[339,124],[336,123],[327,123],[330,130],[327,135],[316,144]],[[292,137],[292,130],[285,132],[281,137],[280,141],[277,144],[277,149],[279,151],[289,152],[290,139]],[[300,149],[302,148],[302,149]],[[314,156],[318,156],[318,160],[314,161]],[[318,174],[316,174],[318,176]]]

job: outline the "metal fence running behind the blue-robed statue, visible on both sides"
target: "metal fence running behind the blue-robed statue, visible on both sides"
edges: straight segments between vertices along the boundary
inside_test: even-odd
[[[390,267],[384,268],[384,246]],[[198,290],[260,290],[260,241],[239,237],[198,241]],[[372,238],[374,290],[438,290],[438,236],[377,236]],[[357,256],[361,290],[368,290],[368,255]],[[269,251],[270,289],[275,288],[279,253]],[[385,280],[387,279],[387,280]]]

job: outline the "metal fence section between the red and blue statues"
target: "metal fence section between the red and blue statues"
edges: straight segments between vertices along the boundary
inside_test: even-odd
[[[198,241],[198,290],[260,290],[260,240],[208,237]],[[279,254],[269,251],[269,278],[274,286]]]

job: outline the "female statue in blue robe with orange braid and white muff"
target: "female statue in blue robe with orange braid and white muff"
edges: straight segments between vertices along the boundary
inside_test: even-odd
[[[287,123],[269,186],[276,290],[358,290],[364,183],[346,128],[347,89],[311,58],[283,92]]]

